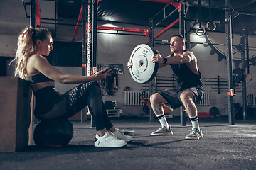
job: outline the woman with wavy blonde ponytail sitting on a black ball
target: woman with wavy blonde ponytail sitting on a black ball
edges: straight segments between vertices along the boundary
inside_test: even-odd
[[[53,50],[53,38],[46,28],[25,28],[18,37],[15,75],[31,83],[36,96],[35,116],[39,120],[70,118],[85,106],[97,130],[95,147],[123,147],[132,137],[114,128],[105,110],[97,80],[107,72],[103,69],[92,76],[62,74],[49,64],[46,57]],[[80,84],[65,94],[55,89],[54,81]]]

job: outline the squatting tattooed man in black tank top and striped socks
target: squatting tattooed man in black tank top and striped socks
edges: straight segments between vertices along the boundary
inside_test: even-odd
[[[170,65],[176,78],[176,89],[166,89],[150,96],[151,107],[161,123],[161,128],[152,132],[151,135],[173,134],[171,126],[167,123],[164,116],[162,105],[169,107],[170,110],[183,106],[192,123],[192,130],[186,135],[186,139],[203,138],[202,130],[199,128],[198,113],[195,105],[203,96],[201,73],[199,72],[195,55],[193,52],[184,52],[184,45],[183,36],[174,35],[170,40],[170,50],[173,55],[161,57],[160,53],[156,50],[157,54],[151,58],[151,62],[159,63],[159,68]],[[128,62],[127,65],[131,67],[132,63]]]

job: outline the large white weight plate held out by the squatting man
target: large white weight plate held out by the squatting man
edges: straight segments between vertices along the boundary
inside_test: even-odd
[[[151,62],[151,57],[156,53],[153,47],[146,44],[137,45],[134,48],[129,59],[132,62],[129,72],[134,81],[146,83],[154,79],[159,64]]]

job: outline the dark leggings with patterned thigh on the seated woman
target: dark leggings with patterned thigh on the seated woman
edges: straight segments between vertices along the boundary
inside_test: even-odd
[[[35,96],[35,116],[39,120],[70,118],[88,106],[97,131],[104,128],[109,130],[113,126],[102,101],[100,86],[96,81],[75,86],[61,96],[53,86],[47,86],[36,91]]]

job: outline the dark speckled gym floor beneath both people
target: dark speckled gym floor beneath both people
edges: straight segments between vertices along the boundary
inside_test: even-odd
[[[42,149],[30,145],[19,152],[0,153],[0,169],[256,169],[256,120],[199,118],[204,138],[185,140],[191,123],[168,119],[174,135],[151,136],[160,128],[149,118],[111,118],[120,130],[134,130],[132,142],[122,148],[94,147],[90,120],[72,121],[73,139],[67,147]]]

